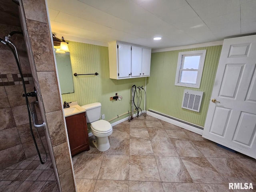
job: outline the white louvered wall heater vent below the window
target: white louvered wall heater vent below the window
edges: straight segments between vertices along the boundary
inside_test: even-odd
[[[184,90],[182,108],[199,112],[204,92]]]

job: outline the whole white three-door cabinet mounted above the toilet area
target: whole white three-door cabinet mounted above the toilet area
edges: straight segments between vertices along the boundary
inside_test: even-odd
[[[150,48],[114,41],[108,43],[108,54],[111,79],[150,76]]]

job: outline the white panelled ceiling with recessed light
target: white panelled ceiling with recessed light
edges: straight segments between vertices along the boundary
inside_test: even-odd
[[[47,0],[52,32],[153,49],[256,33],[256,0]],[[155,41],[154,37],[162,37]]]

